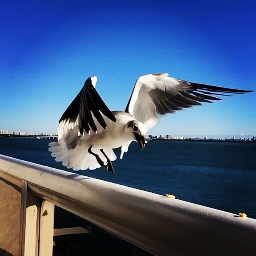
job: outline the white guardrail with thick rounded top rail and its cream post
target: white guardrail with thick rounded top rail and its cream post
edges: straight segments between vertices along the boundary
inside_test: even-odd
[[[256,255],[256,220],[252,218],[240,218],[236,214],[3,155],[0,155],[0,177],[6,184],[21,188],[20,234],[23,235],[19,255],[38,255],[24,254],[27,246],[38,251],[33,241],[26,239],[31,232],[39,239],[39,251],[47,244],[45,237],[48,237],[46,240],[50,237],[52,242],[51,204],[159,256]],[[34,195],[45,200],[37,217],[35,213],[29,215]],[[38,207],[38,203],[34,206]],[[43,221],[44,216],[48,220]],[[33,218],[37,222],[32,222]],[[44,222],[50,228],[44,228]]]

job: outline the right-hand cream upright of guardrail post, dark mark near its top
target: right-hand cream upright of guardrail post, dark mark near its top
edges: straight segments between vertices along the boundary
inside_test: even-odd
[[[51,256],[54,233],[54,204],[44,200],[40,211],[39,256]]]

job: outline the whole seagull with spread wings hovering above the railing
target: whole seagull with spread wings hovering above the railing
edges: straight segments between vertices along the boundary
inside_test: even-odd
[[[110,111],[95,89],[90,76],[62,114],[58,141],[49,144],[51,156],[63,166],[94,170],[106,166],[114,173],[114,148],[121,147],[120,159],[132,141],[145,147],[145,134],[168,113],[222,100],[219,96],[243,94],[237,90],[172,78],[167,73],[140,76],[124,111]]]

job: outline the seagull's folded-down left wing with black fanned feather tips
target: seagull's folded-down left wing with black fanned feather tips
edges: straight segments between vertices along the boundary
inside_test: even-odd
[[[96,91],[96,82],[96,76],[89,77],[76,98],[74,98],[63,113],[58,126],[58,139],[76,126],[78,126],[78,133],[80,134],[84,134],[84,131],[90,134],[90,130],[96,133],[98,128],[94,118],[96,118],[102,128],[106,129],[107,125],[102,114],[116,122],[116,118]]]

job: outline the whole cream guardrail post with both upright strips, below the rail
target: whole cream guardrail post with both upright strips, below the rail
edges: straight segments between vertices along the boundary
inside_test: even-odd
[[[32,194],[27,182],[22,180],[19,255],[51,256],[53,222],[54,204]]]

